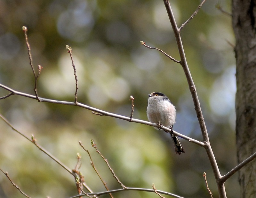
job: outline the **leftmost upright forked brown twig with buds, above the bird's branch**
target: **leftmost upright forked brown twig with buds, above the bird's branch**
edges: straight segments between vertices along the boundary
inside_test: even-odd
[[[29,58],[29,64],[33,70],[33,74],[34,74],[34,77],[35,77],[35,86],[34,86],[34,92],[35,92],[35,95],[36,95],[36,99],[38,100],[38,102],[41,102],[41,100],[38,98],[38,93],[37,93],[37,89],[36,89],[36,85],[37,85],[37,79],[41,73],[41,65],[38,65],[38,74],[36,75],[36,72],[34,70],[34,66],[33,66],[33,59],[32,59],[32,54],[31,54],[31,48],[30,48],[30,45],[29,45],[29,42],[28,42],[28,28],[26,26],[22,26],[22,31],[24,32],[25,34],[25,40],[26,40],[26,44],[27,44],[27,48],[28,48],[28,58]]]

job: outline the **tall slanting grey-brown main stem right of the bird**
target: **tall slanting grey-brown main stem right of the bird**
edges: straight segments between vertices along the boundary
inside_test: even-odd
[[[185,56],[185,52],[184,52],[184,48],[183,48],[183,44],[182,44],[182,40],[180,37],[180,29],[177,27],[173,12],[172,12],[172,8],[170,5],[169,0],[164,0],[164,5],[166,8],[166,11],[168,13],[168,17],[170,19],[171,25],[172,25],[172,29],[176,38],[176,42],[177,42],[177,46],[178,46],[178,50],[179,50],[179,54],[180,54],[180,64],[184,70],[185,76],[187,78],[188,81],[188,86],[189,86],[189,90],[191,92],[192,95],[192,99],[194,102],[194,106],[195,106],[195,110],[196,110],[196,115],[197,115],[197,119],[201,128],[201,132],[202,132],[202,136],[204,138],[204,144],[205,144],[205,150],[206,153],[208,155],[208,158],[210,160],[211,166],[212,166],[212,170],[214,173],[214,177],[218,186],[218,190],[219,190],[219,196],[221,198],[226,198],[226,192],[225,192],[225,186],[224,184],[221,184],[219,182],[219,179],[221,178],[221,174],[220,174],[220,170],[218,167],[218,164],[216,162],[215,156],[213,154],[212,151],[212,147],[210,145],[210,141],[209,141],[209,137],[208,137],[208,133],[207,133],[207,129],[205,126],[205,122],[204,122],[204,117],[202,114],[202,110],[201,110],[201,106],[200,106],[200,102],[196,93],[196,86],[194,84],[194,81],[192,79],[192,76],[190,74],[189,68],[188,68],[188,63],[186,60],[186,56]]]

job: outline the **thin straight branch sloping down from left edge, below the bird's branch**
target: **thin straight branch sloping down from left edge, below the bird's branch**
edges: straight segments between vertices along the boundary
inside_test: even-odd
[[[36,96],[33,96],[36,99]],[[15,132],[17,132],[18,134],[20,134],[21,136],[25,137],[29,142],[33,143],[39,150],[43,151],[46,155],[48,155],[52,160],[54,160],[57,164],[59,164],[62,168],[64,168],[66,171],[68,171],[71,175],[73,175],[74,177],[76,177],[76,174],[74,174],[72,172],[72,170],[70,170],[66,165],[64,165],[62,162],[60,162],[60,160],[58,160],[57,158],[55,158],[51,153],[49,153],[47,150],[45,150],[43,147],[41,147],[40,145],[38,145],[36,143],[36,138],[34,137],[34,135],[31,135],[31,139],[24,135],[23,133],[21,133],[20,131],[18,131],[16,128],[14,128],[12,126],[12,124],[2,115],[0,114],[0,118],[9,126],[12,128],[12,130],[14,130]],[[83,183],[83,186],[90,192],[92,193],[92,190],[90,189],[90,187],[87,186],[86,183]]]

